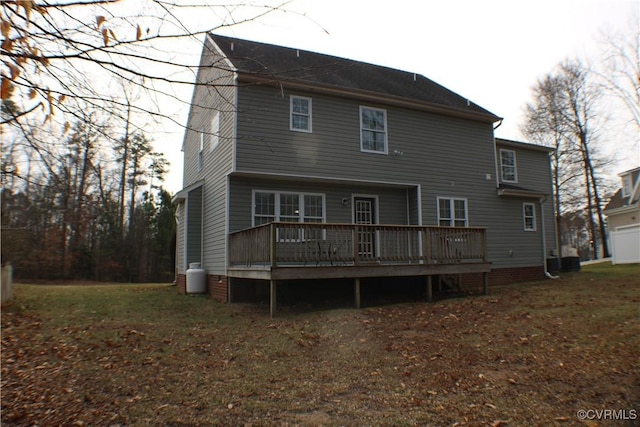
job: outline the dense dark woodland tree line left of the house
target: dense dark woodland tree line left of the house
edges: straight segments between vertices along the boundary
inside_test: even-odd
[[[19,279],[172,281],[167,160],[142,131],[113,137],[108,119],[77,114],[63,132],[23,120],[3,143],[2,262]]]

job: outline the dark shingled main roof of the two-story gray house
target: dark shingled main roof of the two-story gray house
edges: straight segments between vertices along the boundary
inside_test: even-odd
[[[419,74],[300,49],[209,34],[241,74],[404,98],[500,118]]]

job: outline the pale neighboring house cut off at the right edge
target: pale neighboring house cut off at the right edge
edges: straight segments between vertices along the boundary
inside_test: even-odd
[[[618,176],[622,187],[604,208],[611,238],[612,262],[636,263],[640,262],[640,168]]]

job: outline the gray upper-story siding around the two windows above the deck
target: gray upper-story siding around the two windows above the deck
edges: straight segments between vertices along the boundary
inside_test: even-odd
[[[312,133],[289,130],[290,94],[313,99]],[[435,185],[449,184],[453,162],[467,176],[494,171],[490,124],[386,108],[384,155],[360,150],[360,106],[382,105],[256,87],[240,91],[238,103],[238,171]]]

